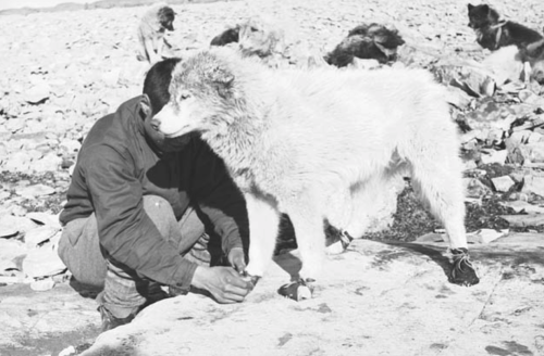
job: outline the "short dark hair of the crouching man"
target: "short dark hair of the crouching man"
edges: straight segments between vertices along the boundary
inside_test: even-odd
[[[169,87],[172,71],[180,61],[181,59],[173,58],[157,62],[146,75],[144,93],[149,98],[153,115],[160,112],[170,100]]]

